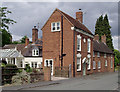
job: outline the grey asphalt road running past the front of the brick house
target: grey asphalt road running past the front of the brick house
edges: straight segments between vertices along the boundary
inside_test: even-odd
[[[22,90],[116,90],[118,73],[100,73],[79,78],[56,81],[50,85],[24,88]]]

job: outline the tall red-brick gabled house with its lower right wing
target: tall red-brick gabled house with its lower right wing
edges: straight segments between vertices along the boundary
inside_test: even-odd
[[[43,66],[52,67],[51,75],[55,74],[57,66],[69,67],[71,65],[73,77],[114,70],[114,56],[112,59],[110,57],[113,52],[102,42],[99,47],[103,45],[104,49],[99,50],[95,46],[99,42],[96,42],[94,35],[83,24],[82,11],[76,12],[76,19],[74,19],[59,9],[55,9],[41,30],[43,31]],[[99,59],[96,56],[97,52],[100,53]],[[107,66],[102,60],[104,53]],[[98,64],[99,69],[97,69]],[[113,64],[112,68],[110,64]]]

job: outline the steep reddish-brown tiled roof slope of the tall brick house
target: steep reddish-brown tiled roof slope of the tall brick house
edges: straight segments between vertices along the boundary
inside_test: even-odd
[[[84,24],[80,23],[78,20],[76,20],[76,19],[74,19],[73,17],[69,16],[68,14],[60,11],[59,9],[56,9],[56,10],[58,10],[61,14],[63,14],[76,28],[82,29],[83,31],[85,31],[85,32],[93,35],[93,34],[91,33],[91,31],[88,30],[88,28],[87,28]]]

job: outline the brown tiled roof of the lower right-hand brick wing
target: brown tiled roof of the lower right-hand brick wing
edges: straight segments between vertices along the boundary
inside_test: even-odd
[[[98,42],[96,40],[93,40],[93,50],[98,52],[113,54],[113,51],[109,49],[109,47],[106,44],[104,44],[103,42]]]

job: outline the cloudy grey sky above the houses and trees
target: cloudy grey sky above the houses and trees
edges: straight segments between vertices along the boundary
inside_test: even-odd
[[[113,45],[118,49],[118,3],[117,2],[4,2],[12,11],[8,17],[17,23],[10,25],[9,31],[13,40],[20,40],[23,36],[32,39],[32,28],[38,27],[39,38],[42,36],[41,28],[48,20],[55,8],[76,18],[79,8],[83,11],[83,24],[94,34],[95,23],[100,15],[108,15],[113,38]]]

